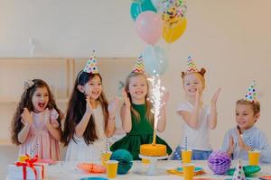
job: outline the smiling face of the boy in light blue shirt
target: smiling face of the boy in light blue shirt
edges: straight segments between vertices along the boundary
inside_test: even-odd
[[[241,130],[249,130],[259,118],[259,112],[255,113],[251,104],[237,103],[236,122]]]

